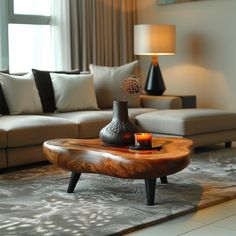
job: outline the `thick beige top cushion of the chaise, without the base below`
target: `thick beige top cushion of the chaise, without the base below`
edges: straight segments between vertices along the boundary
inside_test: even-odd
[[[216,109],[159,110],[136,116],[146,132],[190,136],[236,129],[236,113]]]

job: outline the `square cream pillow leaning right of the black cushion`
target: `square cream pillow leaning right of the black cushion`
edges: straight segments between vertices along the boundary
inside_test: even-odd
[[[98,110],[93,76],[50,73],[58,112]]]

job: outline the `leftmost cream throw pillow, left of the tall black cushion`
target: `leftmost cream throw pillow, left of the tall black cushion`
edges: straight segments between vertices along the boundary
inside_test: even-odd
[[[0,82],[11,115],[42,113],[42,105],[32,73],[23,76],[0,73]]]

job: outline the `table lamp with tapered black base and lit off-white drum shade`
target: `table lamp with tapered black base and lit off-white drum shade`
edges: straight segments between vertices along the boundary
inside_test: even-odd
[[[134,26],[134,53],[152,56],[152,64],[144,87],[149,95],[162,95],[165,91],[158,55],[175,54],[175,32],[176,27],[174,25]]]

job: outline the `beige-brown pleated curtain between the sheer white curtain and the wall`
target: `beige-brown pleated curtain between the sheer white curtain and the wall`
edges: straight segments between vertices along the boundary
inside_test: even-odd
[[[136,0],[70,0],[72,67],[134,60]]]

